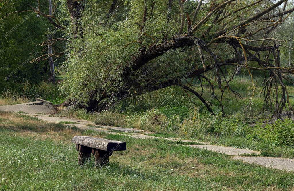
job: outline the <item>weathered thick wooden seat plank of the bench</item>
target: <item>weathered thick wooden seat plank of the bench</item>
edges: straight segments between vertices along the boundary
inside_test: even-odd
[[[95,137],[74,136],[72,142],[78,145],[83,145],[86,147],[91,147],[104,151],[121,151],[127,149],[126,142]]]

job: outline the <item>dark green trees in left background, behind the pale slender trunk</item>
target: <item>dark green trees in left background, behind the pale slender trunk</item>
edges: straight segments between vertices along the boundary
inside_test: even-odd
[[[33,7],[41,13],[48,14],[48,2],[24,0],[1,1],[0,3],[1,91],[21,87],[23,82],[35,84],[43,80],[50,81],[48,59],[40,56],[48,54],[48,47],[46,47],[48,34],[56,38],[63,34],[60,29],[53,28],[41,14],[31,9]],[[56,11],[58,5],[60,5],[59,2],[54,2],[53,12],[60,11]],[[54,44],[54,53],[63,52],[64,44],[59,41],[51,41],[51,43]],[[53,57],[53,60],[58,65],[62,58]]]

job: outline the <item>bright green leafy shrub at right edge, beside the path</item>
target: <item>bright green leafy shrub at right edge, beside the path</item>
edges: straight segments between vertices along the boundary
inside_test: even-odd
[[[276,120],[273,124],[255,125],[253,138],[264,140],[273,145],[294,147],[294,123],[291,119]]]

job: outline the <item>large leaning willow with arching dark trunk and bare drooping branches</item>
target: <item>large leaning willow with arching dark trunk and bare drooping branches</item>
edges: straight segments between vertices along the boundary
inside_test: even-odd
[[[268,71],[265,101],[281,89],[276,91],[275,112],[291,111],[283,82],[294,68],[280,65],[279,47],[287,42],[271,34],[293,11],[286,0],[87,2],[79,18],[83,34],[73,43],[70,77],[63,83],[69,94],[65,105],[93,111],[129,96],[179,86],[213,113],[189,82],[208,81],[221,105],[226,91],[239,96],[230,87],[235,71],[226,74],[225,67],[239,67],[252,79],[250,70]]]

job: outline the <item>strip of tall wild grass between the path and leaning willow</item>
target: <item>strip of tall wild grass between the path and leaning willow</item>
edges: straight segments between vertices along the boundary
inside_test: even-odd
[[[156,133],[177,134],[180,137],[204,139],[206,136],[245,137],[248,124],[236,118],[223,118],[221,113],[211,115],[200,112],[198,107],[181,119],[179,114],[167,117],[158,109],[146,110],[133,115],[103,111],[92,114],[96,124],[148,130]]]

